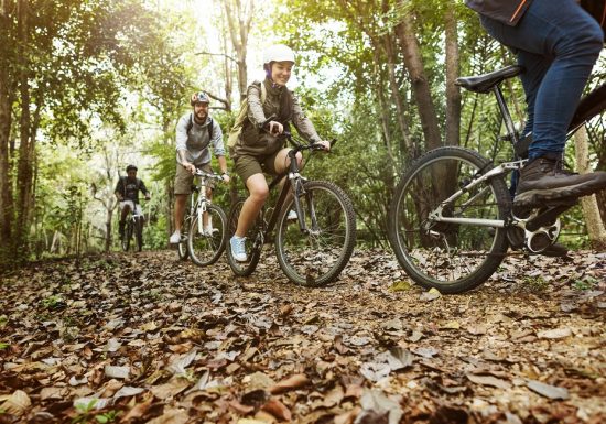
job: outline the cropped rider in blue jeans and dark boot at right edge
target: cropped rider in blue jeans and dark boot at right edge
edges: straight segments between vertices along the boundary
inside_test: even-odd
[[[466,0],[484,28],[518,56],[532,133],[513,205],[537,207],[606,188],[606,172],[562,168],[566,131],[604,45],[599,23],[576,0]]]

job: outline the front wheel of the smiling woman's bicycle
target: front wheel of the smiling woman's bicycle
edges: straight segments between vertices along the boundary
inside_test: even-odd
[[[354,206],[344,191],[324,181],[305,183],[299,202],[303,216],[289,219],[289,213],[295,210],[293,197],[278,218],[278,262],[295,284],[325,285],[338,276],[354,251]],[[305,222],[303,232],[301,220]]]

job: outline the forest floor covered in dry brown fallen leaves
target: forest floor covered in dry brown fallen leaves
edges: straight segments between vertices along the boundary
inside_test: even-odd
[[[0,423],[605,423],[606,253],[509,257],[477,290],[356,250],[327,287],[175,251],[0,281]]]

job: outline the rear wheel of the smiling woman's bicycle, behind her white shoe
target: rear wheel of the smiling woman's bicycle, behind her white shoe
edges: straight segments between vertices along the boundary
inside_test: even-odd
[[[231,209],[229,210],[229,239],[234,236],[234,233],[236,232],[236,228],[238,227],[238,217],[240,216],[240,210],[242,210],[244,203],[245,199],[238,199],[238,202],[234,204],[231,206]],[[249,228],[246,235],[246,262],[239,262],[234,258],[234,256],[231,254],[231,246],[229,242],[227,242],[227,262],[229,262],[229,267],[236,275],[250,275],[257,269],[257,264],[259,263],[259,259],[261,258],[261,249],[263,248],[262,217],[263,209],[261,209],[261,213],[255,221],[255,225]]]

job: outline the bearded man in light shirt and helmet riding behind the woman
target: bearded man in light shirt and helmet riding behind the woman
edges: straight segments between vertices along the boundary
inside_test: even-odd
[[[229,183],[227,173],[227,161],[225,160],[225,148],[223,132],[218,122],[208,115],[210,99],[204,91],[194,93],[190,98],[192,111],[183,115],[176,124],[176,176],[174,183],[175,210],[174,228],[170,243],[176,244],[181,241],[181,225],[185,215],[185,203],[192,193],[192,182],[196,167],[212,173],[210,150],[219,162],[223,180]],[[213,182],[207,183],[208,192],[206,197],[213,198]],[[205,231],[213,232],[213,222],[207,224]]]

